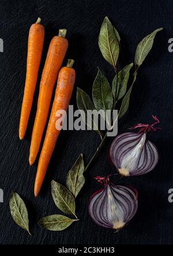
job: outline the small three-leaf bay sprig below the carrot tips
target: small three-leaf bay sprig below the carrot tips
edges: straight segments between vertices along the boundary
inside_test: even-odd
[[[51,181],[51,194],[55,205],[61,212],[70,214],[75,219],[62,214],[53,214],[41,218],[38,222],[40,227],[51,231],[62,231],[79,220],[76,215],[75,198],[85,183],[84,170],[83,155],[80,154],[72,169],[67,173],[66,187],[54,180]]]

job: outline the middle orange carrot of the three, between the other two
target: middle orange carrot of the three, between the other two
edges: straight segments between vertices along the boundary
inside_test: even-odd
[[[42,73],[42,79],[40,81],[37,112],[32,131],[31,147],[29,154],[30,165],[35,162],[37,153],[39,151],[40,142],[42,140],[44,127],[47,121],[52,91],[55,85],[55,81],[57,80],[63,58],[65,57],[67,51],[68,41],[65,36],[66,29],[59,29],[59,35],[52,38],[50,46],[48,48],[46,62]]]

